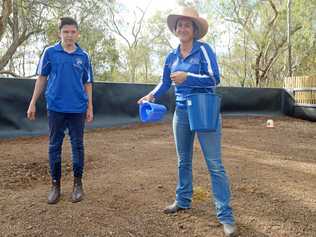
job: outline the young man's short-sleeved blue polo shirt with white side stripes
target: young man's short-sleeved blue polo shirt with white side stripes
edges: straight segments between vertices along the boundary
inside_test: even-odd
[[[66,52],[61,42],[47,47],[38,63],[37,75],[47,77],[45,98],[47,109],[62,113],[84,113],[88,95],[84,84],[93,82],[88,54],[78,44],[74,52]]]

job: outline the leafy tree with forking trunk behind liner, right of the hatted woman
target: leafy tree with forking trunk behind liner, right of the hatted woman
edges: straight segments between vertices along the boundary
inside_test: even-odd
[[[266,86],[273,65],[287,46],[284,4],[272,0],[230,0],[222,2],[222,6],[225,9],[225,19],[236,24],[239,33],[245,34],[243,38],[247,37],[249,40],[247,49],[251,52],[249,59],[252,60],[251,68],[255,75],[254,85]],[[301,24],[296,24],[291,34],[301,28]]]

